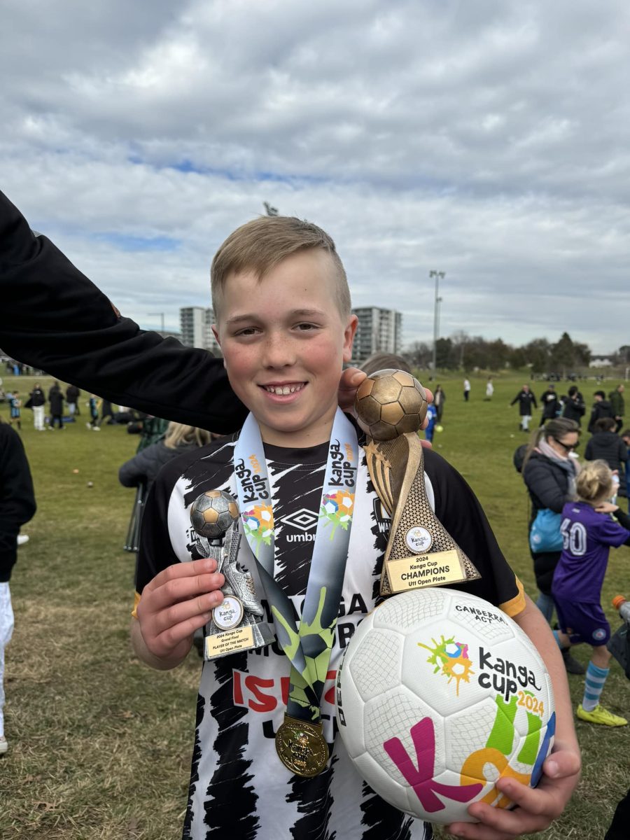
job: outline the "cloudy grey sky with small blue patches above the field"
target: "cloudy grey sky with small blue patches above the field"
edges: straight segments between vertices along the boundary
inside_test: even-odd
[[[2,0],[0,189],[124,314],[176,328],[264,212],[356,306],[630,343],[624,0]]]

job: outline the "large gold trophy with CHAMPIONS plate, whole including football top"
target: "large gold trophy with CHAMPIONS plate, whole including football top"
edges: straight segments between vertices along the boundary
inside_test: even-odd
[[[403,370],[378,370],[357,389],[354,407],[369,436],[370,478],[391,516],[381,595],[479,578],[428,500],[417,436],[427,413],[423,386]]]

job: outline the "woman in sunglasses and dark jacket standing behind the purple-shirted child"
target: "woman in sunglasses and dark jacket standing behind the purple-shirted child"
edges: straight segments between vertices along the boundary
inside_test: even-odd
[[[575,449],[580,441],[580,427],[575,420],[555,417],[534,434],[522,465],[522,477],[528,488],[532,510],[529,520],[531,531],[538,512],[549,510],[560,514],[566,501],[575,498],[575,479],[579,466]],[[560,523],[558,522],[558,531]],[[560,558],[561,546],[555,551],[533,551],[533,571],[538,586],[536,606],[551,622],[554,615],[554,600],[551,584],[554,570]],[[570,674],[584,674],[584,666],[570,655],[563,653],[564,666]]]

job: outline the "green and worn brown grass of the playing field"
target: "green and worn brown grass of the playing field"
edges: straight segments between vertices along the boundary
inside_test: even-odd
[[[23,396],[34,382],[3,379],[5,390],[18,386]],[[465,403],[461,377],[444,377],[444,432],[433,443],[479,496],[535,598],[527,498],[512,466],[526,436],[517,429],[517,407],[508,407],[522,380],[494,381],[495,395],[484,402],[485,377],[473,377]],[[595,389],[585,383],[587,402]],[[32,413],[23,409],[39,510],[24,528],[30,541],[19,549],[11,580],[16,626],[5,674],[10,750],[0,759],[0,837],[171,840],[181,834],[186,806],[200,660],[193,652],[179,669],[162,673],[131,653],[134,560],[122,545],[134,493],[118,485],[117,472],[138,438],[123,427],[88,430],[84,402],[79,422],[64,432],[35,433]],[[8,418],[6,405],[0,415]],[[625,547],[611,552],[602,597],[613,629],[612,596],[630,595],[628,559]],[[577,648],[578,659],[585,662],[589,649]],[[575,706],[583,678],[570,677],[570,685]],[[630,683],[614,662],[604,701],[630,713]],[[537,837],[603,837],[630,782],[629,729],[577,722],[580,787],[564,816]]]

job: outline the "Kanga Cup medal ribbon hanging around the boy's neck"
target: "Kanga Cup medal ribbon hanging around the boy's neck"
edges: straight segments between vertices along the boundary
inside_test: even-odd
[[[299,627],[291,601],[274,579],[274,519],[260,428],[249,414],[234,446],[240,515],[274,617],[278,642],[291,662],[286,712],[319,722],[323,685],[333,648],[344,584],[359,444],[354,426],[339,408],[334,417],[311,569]]]

